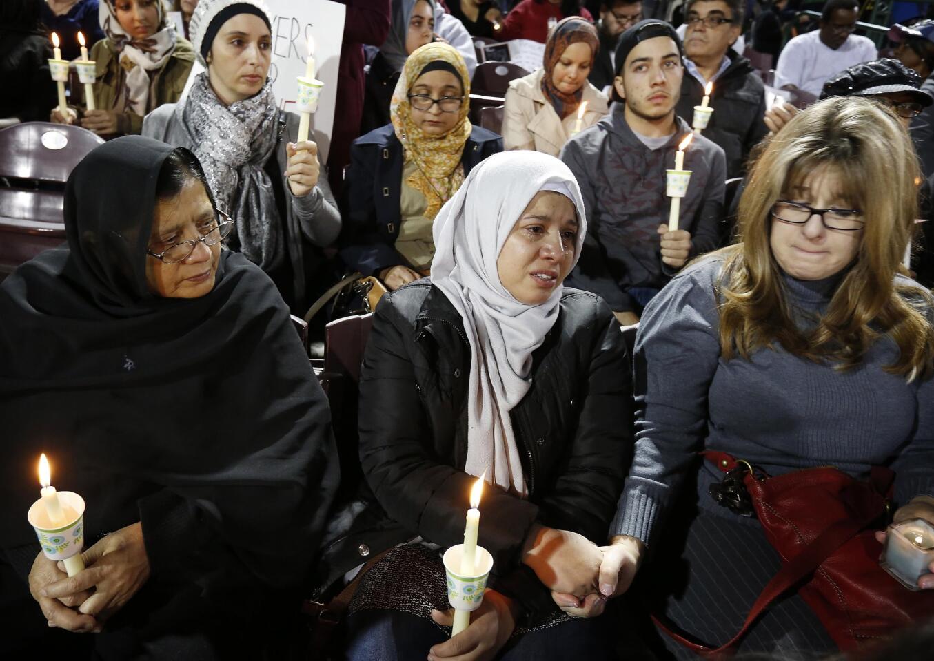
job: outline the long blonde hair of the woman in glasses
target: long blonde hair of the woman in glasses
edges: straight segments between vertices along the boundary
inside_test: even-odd
[[[842,196],[865,219],[852,268],[827,311],[800,330],[771,253],[771,207],[817,168],[831,167]],[[896,284],[917,213],[917,159],[898,118],[862,98],[831,98],[788,122],[758,158],[739,208],[739,239],[726,248],[718,285],[720,346],[725,359],[744,359],[781,345],[789,353],[838,369],[855,368],[875,340],[887,335],[899,359],[885,367],[909,380],[931,373],[934,331],[929,292]]]

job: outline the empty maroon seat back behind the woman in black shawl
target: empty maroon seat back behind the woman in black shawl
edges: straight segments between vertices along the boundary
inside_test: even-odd
[[[103,143],[78,126],[45,121],[0,131],[0,273],[64,241],[64,184]]]

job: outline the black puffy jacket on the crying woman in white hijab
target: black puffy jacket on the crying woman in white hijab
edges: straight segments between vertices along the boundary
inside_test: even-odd
[[[367,556],[417,535],[462,541],[476,479],[463,471],[470,359],[460,315],[429,280],[379,303],[361,371],[366,485],[333,517],[318,595]],[[540,523],[606,541],[630,464],[633,404],[622,333],[594,294],[564,289],[532,359],[531,389],[511,414],[529,498],[486,489],[479,542],[494,558],[491,585],[534,621],[555,606],[520,564],[526,535]]]

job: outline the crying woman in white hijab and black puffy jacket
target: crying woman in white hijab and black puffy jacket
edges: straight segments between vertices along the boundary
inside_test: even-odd
[[[597,543],[632,443],[618,324],[597,296],[561,285],[585,218],[564,163],[494,154],[435,218],[431,280],[380,302],[360,385],[369,489],[347,505],[321,563],[327,585],[389,549],[351,602],[348,658],[492,658],[507,643],[498,658],[612,652],[601,619],[558,610],[600,599]],[[462,541],[480,476],[492,589],[448,640],[438,549]]]

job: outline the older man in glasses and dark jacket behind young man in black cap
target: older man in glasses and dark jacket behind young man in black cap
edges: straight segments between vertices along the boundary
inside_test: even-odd
[[[743,30],[743,0],[688,0],[685,23],[686,71],[676,111],[690,119],[713,82],[714,114],[703,134],[726,153],[727,176],[743,176],[749,150],[768,133],[762,80],[732,49]]]

